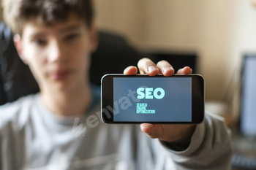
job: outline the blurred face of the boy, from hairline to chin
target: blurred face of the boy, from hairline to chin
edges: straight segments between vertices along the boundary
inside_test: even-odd
[[[31,20],[15,45],[39,87],[66,90],[89,80],[90,54],[97,46],[95,29],[75,15],[53,26]]]

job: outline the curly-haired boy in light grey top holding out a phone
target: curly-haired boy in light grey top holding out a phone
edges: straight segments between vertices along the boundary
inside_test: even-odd
[[[214,115],[206,114],[200,125],[91,122],[100,110],[99,89],[89,82],[90,54],[97,47],[91,1],[3,4],[15,46],[40,93],[0,107],[0,169],[230,168],[229,134]],[[174,73],[166,61],[155,65],[147,58],[138,68],[149,76]],[[124,70],[137,72],[135,66]]]

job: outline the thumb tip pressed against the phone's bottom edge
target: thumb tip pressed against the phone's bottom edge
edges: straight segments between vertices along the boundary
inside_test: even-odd
[[[153,139],[159,138],[159,136],[162,136],[163,134],[161,125],[143,123],[140,125],[140,129]]]

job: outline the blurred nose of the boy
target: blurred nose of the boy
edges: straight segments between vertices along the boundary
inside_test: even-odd
[[[49,58],[48,61],[50,63],[64,63],[67,61],[64,47],[61,45],[59,41],[52,41],[50,42],[49,48]]]

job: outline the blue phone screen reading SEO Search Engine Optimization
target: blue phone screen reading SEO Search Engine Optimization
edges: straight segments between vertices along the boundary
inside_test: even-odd
[[[192,122],[192,77],[113,77],[114,122]]]

